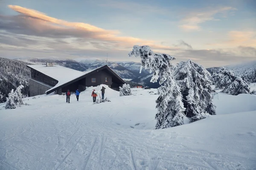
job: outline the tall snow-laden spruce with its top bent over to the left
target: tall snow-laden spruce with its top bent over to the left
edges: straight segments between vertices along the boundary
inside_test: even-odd
[[[172,70],[175,67],[171,63],[175,58],[168,54],[154,54],[147,45],[134,45],[129,56],[140,57],[142,66],[145,69],[150,69],[153,73],[151,82],[157,82],[160,78],[160,85],[158,88],[159,97],[157,103],[157,119],[156,129],[163,129],[167,127],[174,127],[183,125],[183,111],[185,108],[182,103],[182,95],[180,87],[175,82]]]

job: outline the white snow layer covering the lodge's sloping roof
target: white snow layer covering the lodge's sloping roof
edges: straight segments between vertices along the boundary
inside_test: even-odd
[[[47,91],[50,91],[54,88],[57,88],[61,85],[64,85],[66,84],[67,82],[70,82],[74,79],[77,79],[85,74],[88,74],[96,69],[99,69],[101,67],[98,67],[98,68],[95,68],[93,70],[90,70],[90,71],[85,71],[85,72],[82,72],[82,71],[77,71],[77,70],[74,70],[74,69],[71,69],[71,68],[67,68],[67,67],[63,67],[63,66],[60,66],[60,65],[54,65],[52,67],[47,67],[46,65],[27,65],[29,66],[30,68],[33,68],[49,77],[52,77],[53,79],[56,79],[58,80],[58,83],[50,88],[49,90]],[[46,92],[47,92],[46,91]]]

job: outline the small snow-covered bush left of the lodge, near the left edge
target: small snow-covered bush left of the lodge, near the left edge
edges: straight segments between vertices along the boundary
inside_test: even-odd
[[[19,105],[24,105],[22,101],[22,94],[21,94],[21,89],[23,88],[23,85],[20,85],[19,87],[16,88],[15,91],[12,91],[8,94],[8,99],[6,102],[6,109],[14,109],[16,106]]]

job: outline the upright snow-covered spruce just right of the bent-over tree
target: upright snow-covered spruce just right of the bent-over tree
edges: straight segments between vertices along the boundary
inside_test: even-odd
[[[174,71],[174,78],[183,95],[185,115],[190,122],[204,119],[207,115],[215,115],[212,104],[211,74],[198,63],[180,62]],[[209,114],[208,114],[209,113]]]

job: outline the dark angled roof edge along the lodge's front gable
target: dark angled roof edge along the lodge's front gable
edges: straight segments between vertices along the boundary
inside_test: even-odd
[[[65,84],[62,84],[62,85],[60,85],[60,86],[53,87],[51,90],[47,91],[46,94],[50,94],[50,93],[52,93],[53,91],[56,91],[56,90],[59,89],[59,88],[66,87],[67,85],[70,85],[70,84],[72,84],[73,82],[77,82],[77,81],[79,81],[80,79],[83,79],[83,78],[85,78],[85,77],[87,77],[87,76],[90,76],[90,75],[92,75],[92,74],[95,74],[95,73],[97,73],[98,71],[101,71],[101,70],[104,70],[104,69],[107,69],[111,74],[113,74],[113,75],[114,75],[117,79],[119,79],[120,82],[122,82],[123,84],[126,83],[118,74],[116,74],[110,67],[108,67],[108,65],[103,65],[103,66],[101,66],[101,67],[99,67],[99,68],[94,69],[93,71],[90,71],[90,72],[87,73],[87,74],[82,75],[81,77],[78,77],[78,78],[76,78],[76,79],[71,80],[70,82],[67,82],[67,83],[65,83]]]

